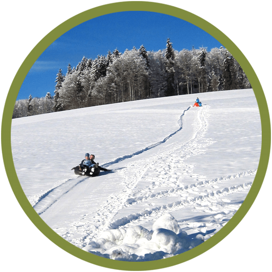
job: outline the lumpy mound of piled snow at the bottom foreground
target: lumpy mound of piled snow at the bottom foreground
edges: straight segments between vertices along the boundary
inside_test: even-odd
[[[186,252],[203,241],[202,235],[189,238],[171,214],[164,214],[153,223],[151,231],[140,225],[107,230],[83,250],[113,260],[150,261]]]

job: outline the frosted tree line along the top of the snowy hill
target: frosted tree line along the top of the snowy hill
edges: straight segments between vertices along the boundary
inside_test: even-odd
[[[54,97],[39,101],[42,113],[49,108],[52,112],[148,98],[251,88],[241,66],[228,50],[221,47],[213,48],[210,52],[207,48],[176,51],[170,39],[167,39],[166,48],[157,52],[146,51],[141,46],[140,49],[134,47],[126,50],[123,54],[118,49],[112,53],[108,51],[107,56],[99,55],[94,60],[84,56],[73,69],[69,63],[65,75],[60,69],[55,82]],[[38,111],[37,101],[33,100],[24,102],[25,116]],[[20,114],[23,116],[22,110]]]

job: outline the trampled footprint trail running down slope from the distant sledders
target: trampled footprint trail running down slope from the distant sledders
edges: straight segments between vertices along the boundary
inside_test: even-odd
[[[183,126],[183,117],[185,115],[185,112],[188,111],[190,108],[191,106],[184,110],[183,114],[180,116],[179,119],[180,129]],[[158,167],[157,165],[155,165],[157,162],[163,161],[162,165],[165,167],[168,167],[171,164],[171,167],[174,168],[175,170],[176,165],[184,164],[184,160],[186,158],[198,155],[201,152],[201,149],[214,143],[211,139],[203,139],[203,135],[205,135],[208,127],[206,119],[208,116],[208,110],[209,107],[204,106],[199,108],[199,110],[196,112],[199,126],[197,131],[194,133],[192,140],[189,140],[185,143],[177,144],[175,146],[171,146],[169,150],[167,149],[167,151],[162,153],[159,152],[158,154],[150,156],[143,161],[139,160],[132,163],[128,163],[125,168],[118,171],[118,173],[122,176],[123,179],[122,184],[124,185],[124,189],[118,194],[111,195],[108,198],[108,200],[104,203],[104,205],[100,206],[99,210],[97,211],[97,215],[93,216],[92,218],[88,218],[89,215],[85,215],[85,218],[82,219],[82,222],[86,224],[93,222],[93,224],[96,225],[96,228],[90,231],[88,239],[97,238],[97,236],[101,232],[107,229],[113,227],[118,228],[118,223],[112,223],[112,218],[114,218],[114,216],[118,213],[119,210],[125,208],[128,205],[129,201],[132,199],[131,195],[133,195],[133,189],[135,188],[135,186],[137,186],[137,184],[141,180],[145,179],[144,177],[145,173],[148,170],[152,169],[154,169],[155,172],[157,173]],[[199,139],[203,140],[201,144],[199,144]],[[166,141],[164,141],[164,143],[166,143]],[[161,142],[158,144],[161,144]],[[131,156],[127,156],[127,158]],[[116,163],[120,162],[121,160],[122,158],[117,159]],[[175,160],[179,161],[176,162]],[[168,176],[171,176],[171,171]],[[160,177],[160,173],[156,174],[155,176],[155,178],[158,177]],[[154,185],[154,187],[160,187],[160,184]],[[140,198],[138,200],[140,200]],[[143,199],[140,201],[143,201]],[[158,209],[162,209],[162,207]],[[164,212],[166,210],[164,210]],[[146,219],[146,215],[143,216],[145,216]],[[132,215],[132,217],[134,216]],[[120,221],[118,222],[121,223]]]

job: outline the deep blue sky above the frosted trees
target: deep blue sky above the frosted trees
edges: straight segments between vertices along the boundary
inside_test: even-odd
[[[42,35],[45,33],[41,33]],[[174,50],[191,50],[222,45],[207,32],[189,22],[161,13],[125,11],[103,15],[84,22],[67,31],[54,41],[37,59],[21,85],[18,99],[44,97],[55,90],[55,79],[59,69],[67,72],[70,63],[76,67],[83,56],[97,58],[118,49],[124,53],[142,44],[147,51],[166,48],[170,38]],[[33,44],[34,45],[34,44]]]

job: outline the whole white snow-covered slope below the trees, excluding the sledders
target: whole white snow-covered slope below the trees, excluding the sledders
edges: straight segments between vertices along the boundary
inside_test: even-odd
[[[13,119],[14,165],[36,212],[111,259],[171,257],[209,239],[251,188],[261,122],[252,89],[197,96],[202,107],[183,95]],[[74,175],[86,152],[113,171]]]

